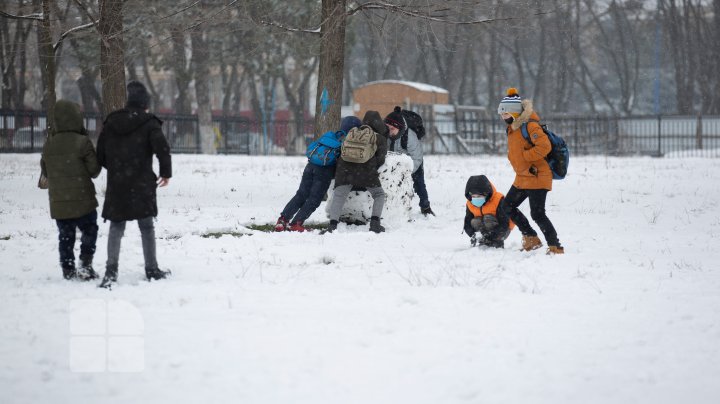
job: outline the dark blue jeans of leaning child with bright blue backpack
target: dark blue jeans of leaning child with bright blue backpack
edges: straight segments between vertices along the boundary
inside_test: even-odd
[[[335,177],[335,167],[320,167],[307,163],[300,187],[280,213],[290,223],[303,223],[315,212]]]

